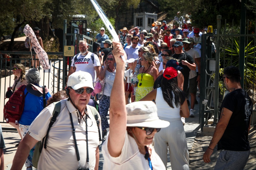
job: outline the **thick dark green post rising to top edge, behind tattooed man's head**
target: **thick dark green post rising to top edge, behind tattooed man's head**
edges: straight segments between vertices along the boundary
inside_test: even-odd
[[[246,3],[247,0],[241,0],[241,28],[240,34],[245,34],[246,27]],[[244,48],[245,48],[245,36],[240,36],[239,40],[239,70],[241,75],[241,87],[244,86]]]

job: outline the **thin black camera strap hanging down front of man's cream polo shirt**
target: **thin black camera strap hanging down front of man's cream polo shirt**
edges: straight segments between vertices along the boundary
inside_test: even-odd
[[[80,111],[78,110],[79,114]],[[86,113],[85,113],[86,117],[85,117],[85,124],[86,124],[86,150],[87,150],[87,155],[86,155],[86,168],[89,169],[89,151],[88,151],[88,130],[87,130],[87,109],[86,109]],[[77,155],[77,161],[78,161],[78,166],[80,168],[80,156],[79,156],[79,151],[78,151],[78,146],[77,146],[77,140],[76,140],[76,134],[75,134],[75,128],[74,128],[74,124],[73,124],[73,118],[71,113],[69,112],[69,116],[70,116],[70,121],[71,121],[71,126],[72,126],[72,133],[73,133],[73,138],[74,138],[74,143],[75,143],[75,149],[76,149],[76,155]],[[88,116],[89,117],[89,116]]]

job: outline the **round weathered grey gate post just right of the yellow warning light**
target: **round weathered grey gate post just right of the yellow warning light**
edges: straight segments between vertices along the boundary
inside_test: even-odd
[[[220,24],[221,15],[217,15],[217,40],[216,40],[216,64],[215,64],[215,88],[214,88],[214,123],[218,122],[219,103],[219,71],[220,71]]]

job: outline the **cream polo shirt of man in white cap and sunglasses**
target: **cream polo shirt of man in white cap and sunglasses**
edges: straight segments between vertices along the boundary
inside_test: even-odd
[[[86,167],[86,123],[81,120],[78,122],[78,112],[76,108],[67,99],[61,100],[61,111],[56,122],[52,125],[48,140],[47,149],[42,149],[42,153],[38,162],[38,170],[40,169],[78,169],[78,161],[76,156],[75,144],[72,135],[72,126],[69,112],[72,114],[73,124],[76,133],[76,140],[80,156],[80,164],[82,168]],[[90,169],[95,167],[95,151],[99,141],[99,132],[96,120],[90,110],[88,109],[87,128],[88,128],[88,149],[89,149],[89,166]],[[40,141],[47,132],[49,122],[54,110],[54,104],[50,104],[32,122],[28,129],[28,134],[34,139]],[[88,117],[88,116],[87,116]],[[101,119],[98,114],[100,125]],[[83,117],[84,119],[86,116]],[[100,127],[101,129],[101,127]]]

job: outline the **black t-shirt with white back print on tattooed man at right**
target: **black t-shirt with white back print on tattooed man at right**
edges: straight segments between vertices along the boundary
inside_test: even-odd
[[[248,128],[252,114],[252,101],[250,97],[245,90],[236,89],[227,94],[223,99],[220,112],[223,107],[233,113],[224,134],[218,142],[218,150],[249,150]]]

